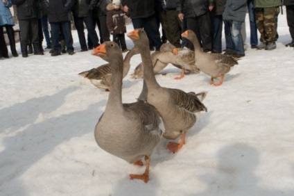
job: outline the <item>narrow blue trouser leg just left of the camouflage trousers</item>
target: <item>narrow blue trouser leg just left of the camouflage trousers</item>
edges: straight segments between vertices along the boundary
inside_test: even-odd
[[[249,22],[250,22],[250,45],[257,46],[258,38],[257,38],[257,23],[255,20],[255,11],[253,7],[252,0],[248,1],[248,14],[249,14]]]

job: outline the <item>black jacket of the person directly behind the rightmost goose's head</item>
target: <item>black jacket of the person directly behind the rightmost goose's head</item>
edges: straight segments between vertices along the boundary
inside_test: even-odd
[[[184,17],[196,17],[209,11],[208,6],[213,6],[214,0],[179,0],[177,2],[178,13]]]

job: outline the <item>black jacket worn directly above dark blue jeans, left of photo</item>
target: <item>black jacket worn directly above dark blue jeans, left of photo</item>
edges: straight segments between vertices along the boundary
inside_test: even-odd
[[[48,8],[49,22],[65,22],[71,20],[71,9],[76,0],[50,0]]]

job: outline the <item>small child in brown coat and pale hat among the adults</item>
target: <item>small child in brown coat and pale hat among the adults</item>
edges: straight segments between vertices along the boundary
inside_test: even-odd
[[[107,5],[107,28],[113,36],[113,41],[121,47],[123,52],[129,51],[126,45],[125,13],[121,9],[121,1],[113,0]]]

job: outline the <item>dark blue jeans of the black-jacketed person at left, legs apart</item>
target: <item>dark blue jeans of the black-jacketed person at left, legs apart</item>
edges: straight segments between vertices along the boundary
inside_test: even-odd
[[[60,30],[62,29],[62,32],[64,34],[65,44],[67,46],[67,52],[74,51],[74,47],[73,47],[74,40],[71,35],[71,22],[70,21],[51,22],[50,26],[51,26],[53,50],[56,53],[60,53],[60,51],[61,51]]]

